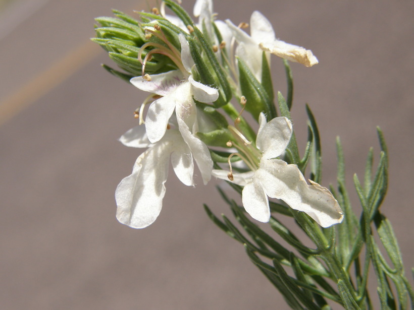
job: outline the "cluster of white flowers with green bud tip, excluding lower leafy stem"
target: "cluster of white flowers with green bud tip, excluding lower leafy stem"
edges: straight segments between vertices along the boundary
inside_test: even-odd
[[[166,6],[177,16],[166,15]],[[243,187],[243,206],[258,221],[269,221],[270,197],[323,227],[341,222],[332,194],[318,183],[307,184],[298,166],[283,160],[292,123],[277,116],[273,104],[270,54],[310,67],[318,63],[312,51],[277,39],[260,12],[251,15],[250,35],[242,29],[245,23],[216,20],[212,0],[196,1],[198,23],[172,0],[139,14],[142,22],[116,12],[119,19],[97,19],[102,27],[96,28],[95,41],[127,73],[106,69],[150,93],[135,111],[139,125],[120,138],[146,150],[117,187],[118,220],[133,228],[156,220],[171,160],[185,185],[194,185],[195,161],[204,184],[213,175]],[[243,111],[258,120],[257,135]]]

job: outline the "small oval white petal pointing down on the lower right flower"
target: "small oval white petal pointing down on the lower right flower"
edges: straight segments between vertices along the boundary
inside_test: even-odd
[[[243,207],[252,218],[267,223],[270,219],[269,201],[262,184],[253,178],[242,191]]]

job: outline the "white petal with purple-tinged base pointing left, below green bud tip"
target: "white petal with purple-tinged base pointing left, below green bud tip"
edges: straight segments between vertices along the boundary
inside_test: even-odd
[[[144,80],[142,77],[134,77],[130,82],[140,90],[160,96],[167,96],[180,85],[183,78],[184,76],[181,71],[173,70],[151,75],[151,81]]]

